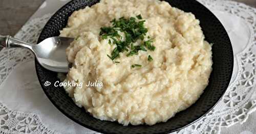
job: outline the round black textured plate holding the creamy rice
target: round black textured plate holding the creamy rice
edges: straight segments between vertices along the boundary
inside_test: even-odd
[[[65,28],[69,16],[78,9],[92,6],[99,1],[74,0],[59,9],[47,22],[38,39],[42,40],[58,36],[59,30]],[[200,25],[212,46],[214,65],[210,75],[209,85],[198,101],[185,111],[175,115],[165,123],[157,123],[153,126],[122,126],[117,122],[101,121],[86,113],[83,108],[75,105],[73,100],[66,94],[62,87],[44,86],[46,81],[55,83],[59,81],[57,73],[42,68],[36,61],[36,72],[42,89],[52,103],[66,116],[80,125],[103,133],[168,133],[183,128],[205,115],[220,100],[226,91],[233,69],[233,52],[229,37],[221,22],[207,8],[195,0],[172,0],[167,1],[173,7],[186,12],[192,12],[200,20]]]

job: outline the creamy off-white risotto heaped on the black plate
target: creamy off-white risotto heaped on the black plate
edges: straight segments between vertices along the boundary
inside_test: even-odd
[[[131,57],[122,52],[118,63],[112,61],[107,55],[115,45],[100,37],[100,28],[114,18],[139,14],[156,49]],[[208,85],[212,52],[199,20],[166,2],[102,0],[75,11],[60,33],[75,38],[67,48],[73,66],[65,82],[83,83],[82,88],[65,89],[95,118],[123,125],[166,122],[195,103]],[[148,55],[154,60],[148,62]],[[134,64],[141,67],[132,68]],[[103,86],[85,86],[89,81]]]

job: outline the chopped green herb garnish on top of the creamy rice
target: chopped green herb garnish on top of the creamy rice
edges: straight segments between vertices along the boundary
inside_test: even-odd
[[[137,19],[136,19],[137,18]],[[136,17],[125,18],[121,17],[118,20],[113,19],[111,21],[112,26],[103,26],[100,29],[99,35],[102,39],[109,39],[109,44],[115,44],[116,47],[111,52],[111,55],[107,55],[111,60],[115,60],[120,57],[121,52],[126,51],[126,56],[134,56],[139,55],[139,51],[154,51],[156,47],[152,44],[153,39],[150,39],[150,36],[147,36],[148,40],[144,40],[146,37],[146,33],[148,29],[144,26],[145,20],[142,20],[141,15],[137,15]],[[125,40],[120,36],[120,33],[124,34]],[[141,40],[139,45],[135,45],[134,43],[138,40]],[[153,58],[149,58],[152,61]],[[117,62],[119,63],[119,62]],[[141,65],[135,64],[132,65],[134,67],[141,67]]]

